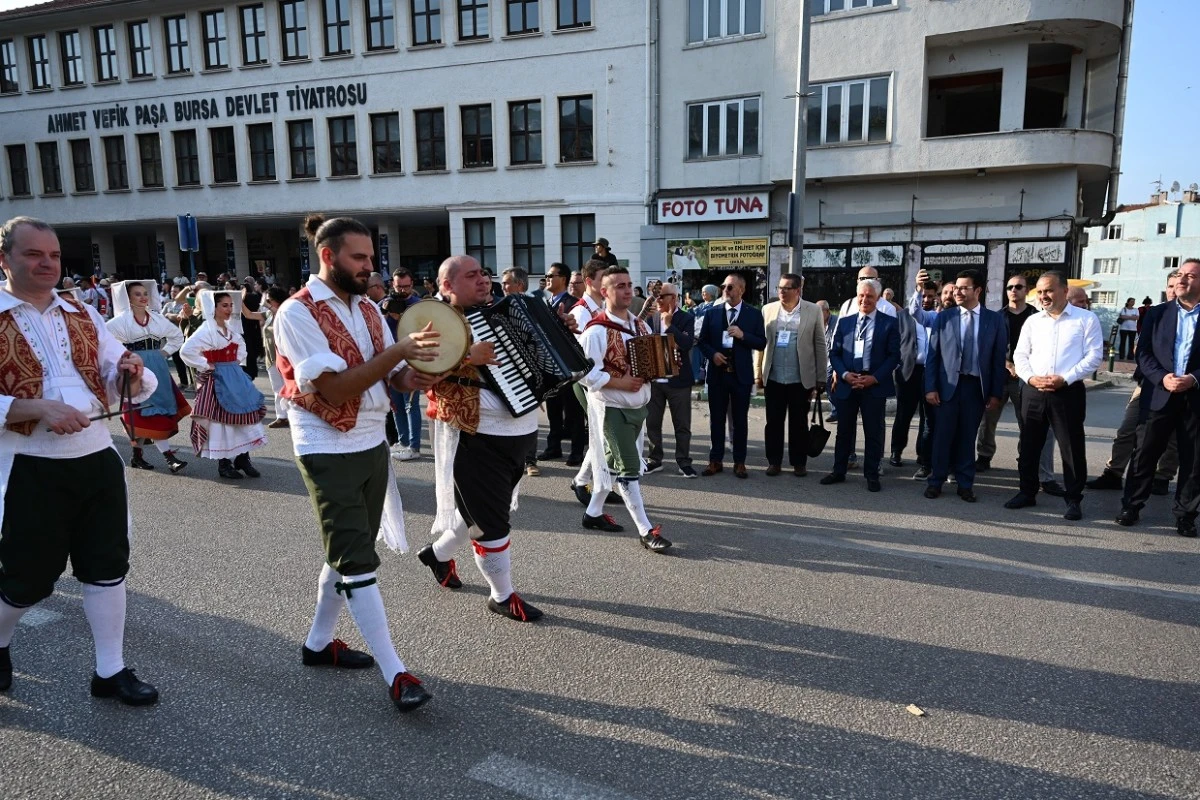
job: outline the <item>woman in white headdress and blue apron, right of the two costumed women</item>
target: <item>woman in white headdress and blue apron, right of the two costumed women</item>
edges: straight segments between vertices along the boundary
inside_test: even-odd
[[[221,477],[258,477],[250,451],[266,446],[263,393],[241,369],[246,343],[241,338],[241,297],[235,291],[205,289],[198,295],[204,324],[179,354],[197,371],[192,408],[192,450],[216,458]]]

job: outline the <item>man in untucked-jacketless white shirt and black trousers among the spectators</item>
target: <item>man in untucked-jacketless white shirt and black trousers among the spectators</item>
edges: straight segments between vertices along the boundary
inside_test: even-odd
[[[1062,453],[1067,513],[1064,519],[1082,519],[1080,501],[1087,480],[1084,417],[1087,392],[1084,379],[1104,357],[1104,338],[1096,314],[1067,302],[1067,277],[1045,272],[1038,278],[1042,312],[1030,317],[1013,351],[1021,389],[1020,458],[1021,489],[1006,509],[1037,505],[1038,461],[1046,432],[1054,429]]]

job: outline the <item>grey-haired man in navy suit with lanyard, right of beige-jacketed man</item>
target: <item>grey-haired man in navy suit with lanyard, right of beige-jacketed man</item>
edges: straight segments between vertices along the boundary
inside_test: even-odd
[[[886,433],[883,414],[889,397],[896,393],[892,373],[900,362],[900,327],[894,317],[876,309],[883,287],[870,278],[858,282],[858,313],[842,314],[829,343],[833,402],[838,409],[838,439],[833,451],[833,471],[822,485],[846,480],[850,453],[854,450],[858,414],[863,414],[866,439],[863,476],[866,488],[878,492],[880,463],[883,461]]]

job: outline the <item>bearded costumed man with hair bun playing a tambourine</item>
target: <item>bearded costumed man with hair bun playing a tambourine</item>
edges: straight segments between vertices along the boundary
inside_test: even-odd
[[[320,272],[280,306],[272,326],[296,463],[325,547],[301,660],[348,669],[378,663],[391,700],[410,711],[431,694],[396,652],[376,578],[377,535],[392,549],[408,549],[384,433],[391,408],[384,381],[400,391],[432,385],[404,360],[434,357],[438,336],[418,332],[395,343],[379,308],[366,297],[374,248],[362,223],[313,215],[305,230]],[[343,607],[373,658],[334,638]]]

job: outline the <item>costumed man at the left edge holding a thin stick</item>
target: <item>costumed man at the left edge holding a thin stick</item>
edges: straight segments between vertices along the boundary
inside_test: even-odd
[[[142,359],[84,303],[55,295],[59,239],[47,223],[0,227],[0,691],[12,685],[8,645],[22,615],[49,597],[67,558],[83,584],[96,644],[94,697],[148,705],[158,691],[125,666],[130,512],[125,465],[94,417],[126,385],[140,403],[158,386]],[[71,503],[47,503],[53,487]]]

